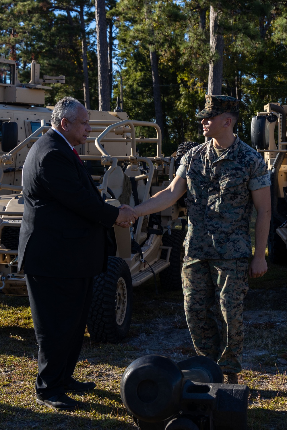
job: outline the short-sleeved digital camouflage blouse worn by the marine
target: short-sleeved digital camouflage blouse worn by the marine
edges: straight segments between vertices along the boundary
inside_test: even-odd
[[[187,182],[185,255],[201,260],[250,257],[251,191],[271,185],[262,156],[236,136],[217,157],[211,140],[191,148],[176,175]]]

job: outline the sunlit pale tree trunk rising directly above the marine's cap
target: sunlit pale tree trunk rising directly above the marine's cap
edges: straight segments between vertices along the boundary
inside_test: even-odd
[[[223,35],[218,25],[220,12],[210,6],[210,63],[208,94],[221,95],[223,66]],[[215,58],[217,57],[217,58]]]

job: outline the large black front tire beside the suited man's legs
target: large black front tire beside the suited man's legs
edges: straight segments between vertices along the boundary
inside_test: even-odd
[[[130,329],[133,283],[122,258],[109,257],[108,270],[94,278],[93,299],[88,315],[88,332],[93,341],[120,341]]]

